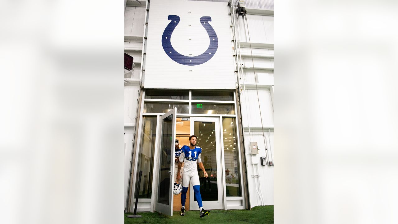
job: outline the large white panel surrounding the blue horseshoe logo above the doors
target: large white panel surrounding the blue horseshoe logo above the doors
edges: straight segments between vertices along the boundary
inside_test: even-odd
[[[209,61],[183,65],[166,54],[162,35],[170,23],[169,15],[180,18],[170,42],[175,51],[189,57],[201,55],[209,47],[209,35],[200,18],[211,17],[209,24],[217,34],[218,48]],[[144,88],[236,88],[230,17],[225,3],[152,0],[148,24]]]

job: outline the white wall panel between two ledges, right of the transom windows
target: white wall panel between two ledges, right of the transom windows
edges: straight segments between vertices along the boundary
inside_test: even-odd
[[[271,101],[271,93],[269,92],[269,90],[258,90],[258,95],[261,108],[261,117],[263,118],[263,126],[273,126],[273,107]],[[243,90],[241,100],[243,126],[261,126],[261,118],[256,90]]]

